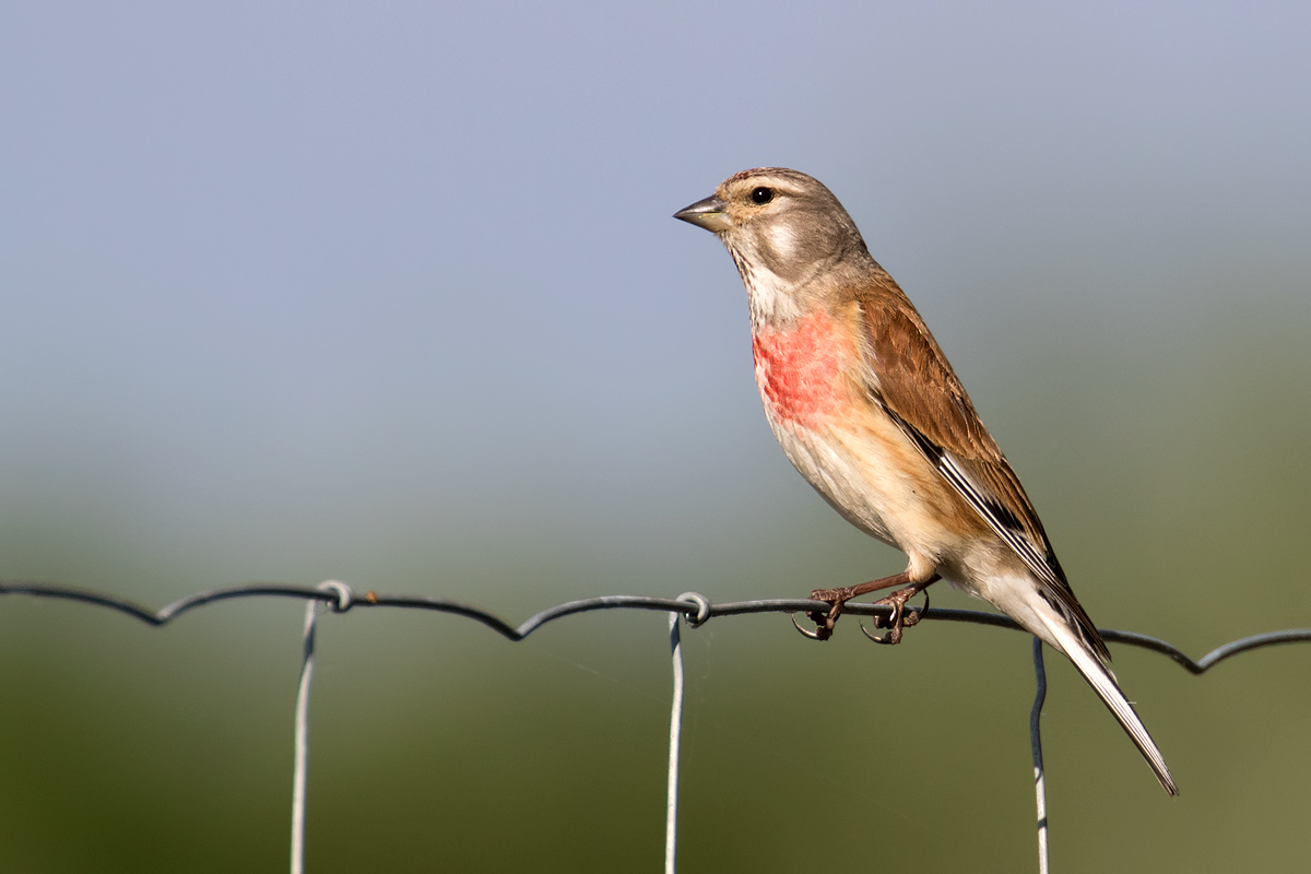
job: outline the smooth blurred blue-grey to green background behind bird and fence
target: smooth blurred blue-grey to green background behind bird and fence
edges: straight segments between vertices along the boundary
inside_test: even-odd
[[[0,8],[0,577],[801,596],[895,573],[791,469],[675,210],[826,182],[1105,628],[1311,625],[1306,4]],[[982,607],[945,590],[936,605]],[[0,599],[0,867],[283,870],[299,603]],[[658,870],[666,617],[326,616],[315,871]],[[684,871],[1034,862],[1029,639],[684,636]],[[1049,658],[1054,870],[1304,870],[1311,647]]]

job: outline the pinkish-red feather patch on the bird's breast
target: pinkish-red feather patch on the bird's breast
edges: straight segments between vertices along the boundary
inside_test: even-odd
[[[843,363],[855,359],[855,347],[827,312],[789,330],[758,330],[751,351],[760,397],[775,418],[814,427],[847,401]]]

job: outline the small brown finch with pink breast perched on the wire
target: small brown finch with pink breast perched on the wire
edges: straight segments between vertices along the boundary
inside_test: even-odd
[[[899,574],[812,592],[830,609],[810,615],[809,636],[827,638],[847,600],[903,586],[878,601],[890,630],[876,639],[895,643],[919,616],[906,601],[945,579],[1063,653],[1177,795],[1020,478],[838,198],[805,173],[755,168],[674,218],[733,256],[756,385],[788,460],[847,522],[909,560]]]

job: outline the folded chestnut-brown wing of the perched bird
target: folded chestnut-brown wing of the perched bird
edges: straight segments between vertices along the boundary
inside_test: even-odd
[[[857,295],[874,400],[937,472],[1024,561],[1047,601],[1078,628],[1104,659],[1106,645],[1075,599],[1038,514],[1020,478],[983,427],[965,387],[924,320],[884,274],[882,287]]]

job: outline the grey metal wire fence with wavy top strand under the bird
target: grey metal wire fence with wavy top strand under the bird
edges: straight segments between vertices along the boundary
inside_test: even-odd
[[[304,600],[304,655],[300,670],[300,683],[296,689],[294,726],[295,753],[292,767],[291,808],[292,874],[303,874],[304,871],[305,786],[309,760],[309,688],[313,679],[315,664],[315,629],[317,616],[324,607],[330,608],[334,613],[346,613],[357,608],[400,608],[450,613],[481,622],[510,641],[522,641],[543,625],[577,613],[591,613],[595,611],[608,609],[640,609],[669,613],[669,641],[674,681],[670,702],[669,781],[666,788],[665,871],[667,874],[673,874],[675,871],[678,845],[679,743],[683,718],[683,656],[680,625],[686,624],[691,628],[700,628],[713,618],[743,616],[749,613],[796,615],[812,613],[817,611],[823,613],[827,612],[830,607],[825,601],[814,601],[809,599],[762,599],[714,604],[704,595],[699,595],[696,592],[684,592],[683,595],[673,599],[649,598],[642,595],[604,595],[558,604],[528,617],[519,625],[513,625],[496,613],[460,601],[421,595],[379,595],[372,591],[357,595],[349,586],[337,580],[329,580],[317,587],[252,584],[214,588],[182,598],[157,611],[151,611],[140,604],[117,598],[114,595],[50,583],[0,580],[0,595],[31,595],[35,598],[50,598],[92,604],[126,613],[152,626],[166,625],[190,611],[233,599],[283,598]],[[848,603],[843,612],[853,616],[878,617],[878,620],[882,620],[884,622],[891,618],[891,608],[880,604]],[[906,613],[907,625],[920,620],[936,620],[1023,630],[1013,620],[1006,616],[979,611],[907,607]],[[876,624],[878,620],[876,620]],[[1240,653],[1248,653],[1251,650],[1274,646],[1277,643],[1311,641],[1311,629],[1268,632],[1265,634],[1253,634],[1251,637],[1232,641],[1224,646],[1211,650],[1202,658],[1193,660],[1188,654],[1172,643],[1155,637],[1148,637],[1147,634],[1120,632],[1114,629],[1100,630],[1103,638],[1109,643],[1126,643],[1151,650],[1154,653],[1160,653],[1162,655],[1167,655],[1173,659],[1193,675],[1203,674],[1224,659]],[[1033,666],[1037,679],[1037,692],[1034,694],[1033,709],[1029,715],[1029,735],[1033,748],[1034,794],[1037,802],[1038,870],[1041,874],[1047,874],[1050,870],[1050,861],[1047,852],[1046,786],[1042,768],[1042,734],[1040,725],[1042,705],[1046,697],[1046,672],[1042,663],[1042,643],[1037,638],[1033,638]]]

